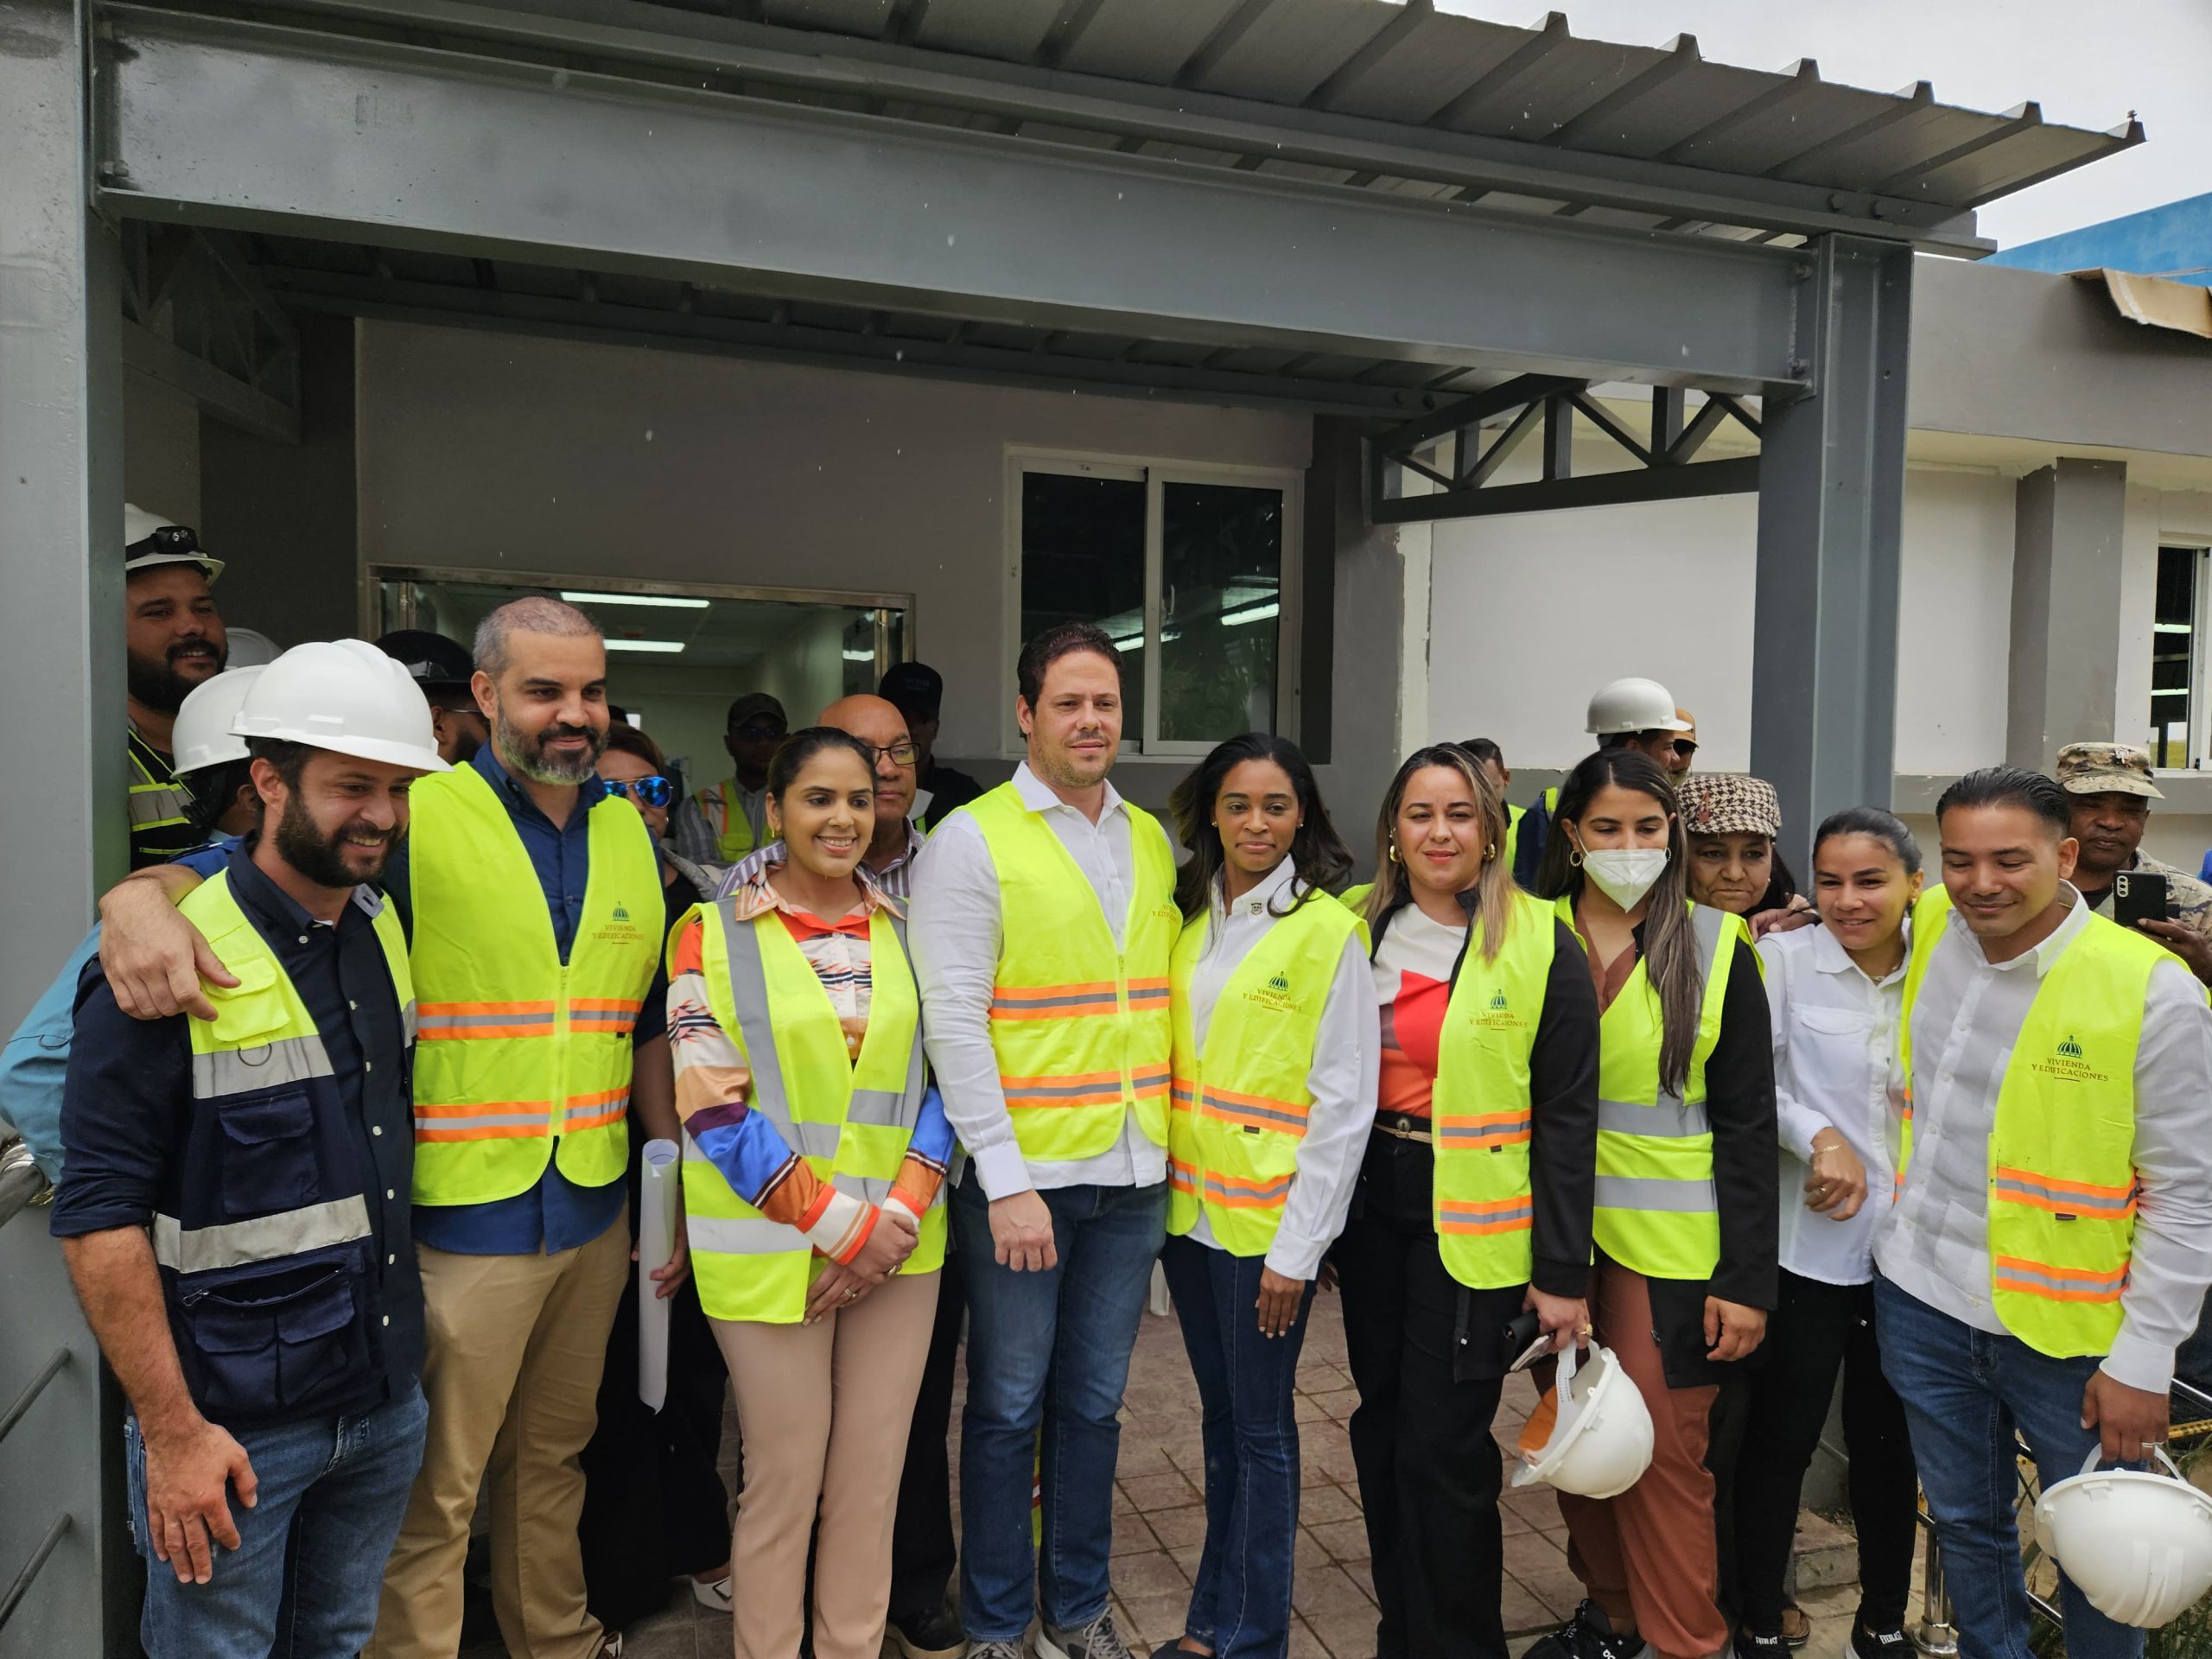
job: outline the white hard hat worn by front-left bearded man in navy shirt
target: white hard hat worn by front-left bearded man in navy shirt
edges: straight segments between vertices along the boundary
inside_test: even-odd
[[[230,730],[422,772],[451,770],[438,759],[422,688],[367,639],[292,646],[261,670]]]

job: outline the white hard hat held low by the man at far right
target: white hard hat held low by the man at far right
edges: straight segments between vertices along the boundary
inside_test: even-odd
[[[2157,1449],[2157,1469],[2081,1473],[2035,1504],[2035,1537],[2108,1619],[2157,1630],[2212,1590],[2212,1495],[2197,1491]]]

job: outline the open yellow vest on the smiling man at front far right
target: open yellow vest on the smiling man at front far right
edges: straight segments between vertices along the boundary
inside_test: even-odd
[[[1951,896],[1913,907],[1898,1060],[1905,1075],[1898,1188],[1913,1152],[1913,1004]],[[1989,1133],[1989,1281],[2004,1329],[2039,1354],[2108,1354],[2135,1245],[2135,1051],[2150,973],[2170,953],[2088,916],[2044,971],[2013,1042]]]

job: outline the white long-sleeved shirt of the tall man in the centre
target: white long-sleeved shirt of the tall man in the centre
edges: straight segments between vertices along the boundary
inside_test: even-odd
[[[1084,872],[1115,945],[1128,922],[1128,896],[1137,889],[1137,858],[1130,849],[1128,805],[1106,785],[1106,805],[1091,823],[1029,770],[1015,768],[1013,787],[1022,805],[1044,814],[1075,867]],[[1166,832],[1152,823],[1146,834]],[[922,1044],[945,1095],[960,1146],[975,1164],[984,1197],[1006,1199],[1031,1188],[1062,1186],[1152,1186],[1168,1179],[1168,1152],[1137,1128],[1135,1108],[1121,1117],[1119,1139],[1097,1157],[1071,1161],[1026,1161],[1013,1139],[1006,1093],[998,1084],[998,1053],[991,1048],[991,987],[998,982],[998,947],[1004,920],[998,905],[998,867],[975,818],[956,812],[938,825],[914,865],[914,902],[907,909],[907,949],[922,987]]]

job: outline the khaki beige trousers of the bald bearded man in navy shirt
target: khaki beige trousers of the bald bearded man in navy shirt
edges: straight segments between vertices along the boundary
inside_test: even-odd
[[[367,1659],[453,1659],[460,1571],[476,1495],[491,1475],[491,1606],[513,1659],[597,1659],[584,1610],[577,1458],[597,1425],[606,1338],[630,1272],[615,1221],[557,1256],[460,1256],[416,1248],[422,1267],[429,1440],[385,1566]]]

